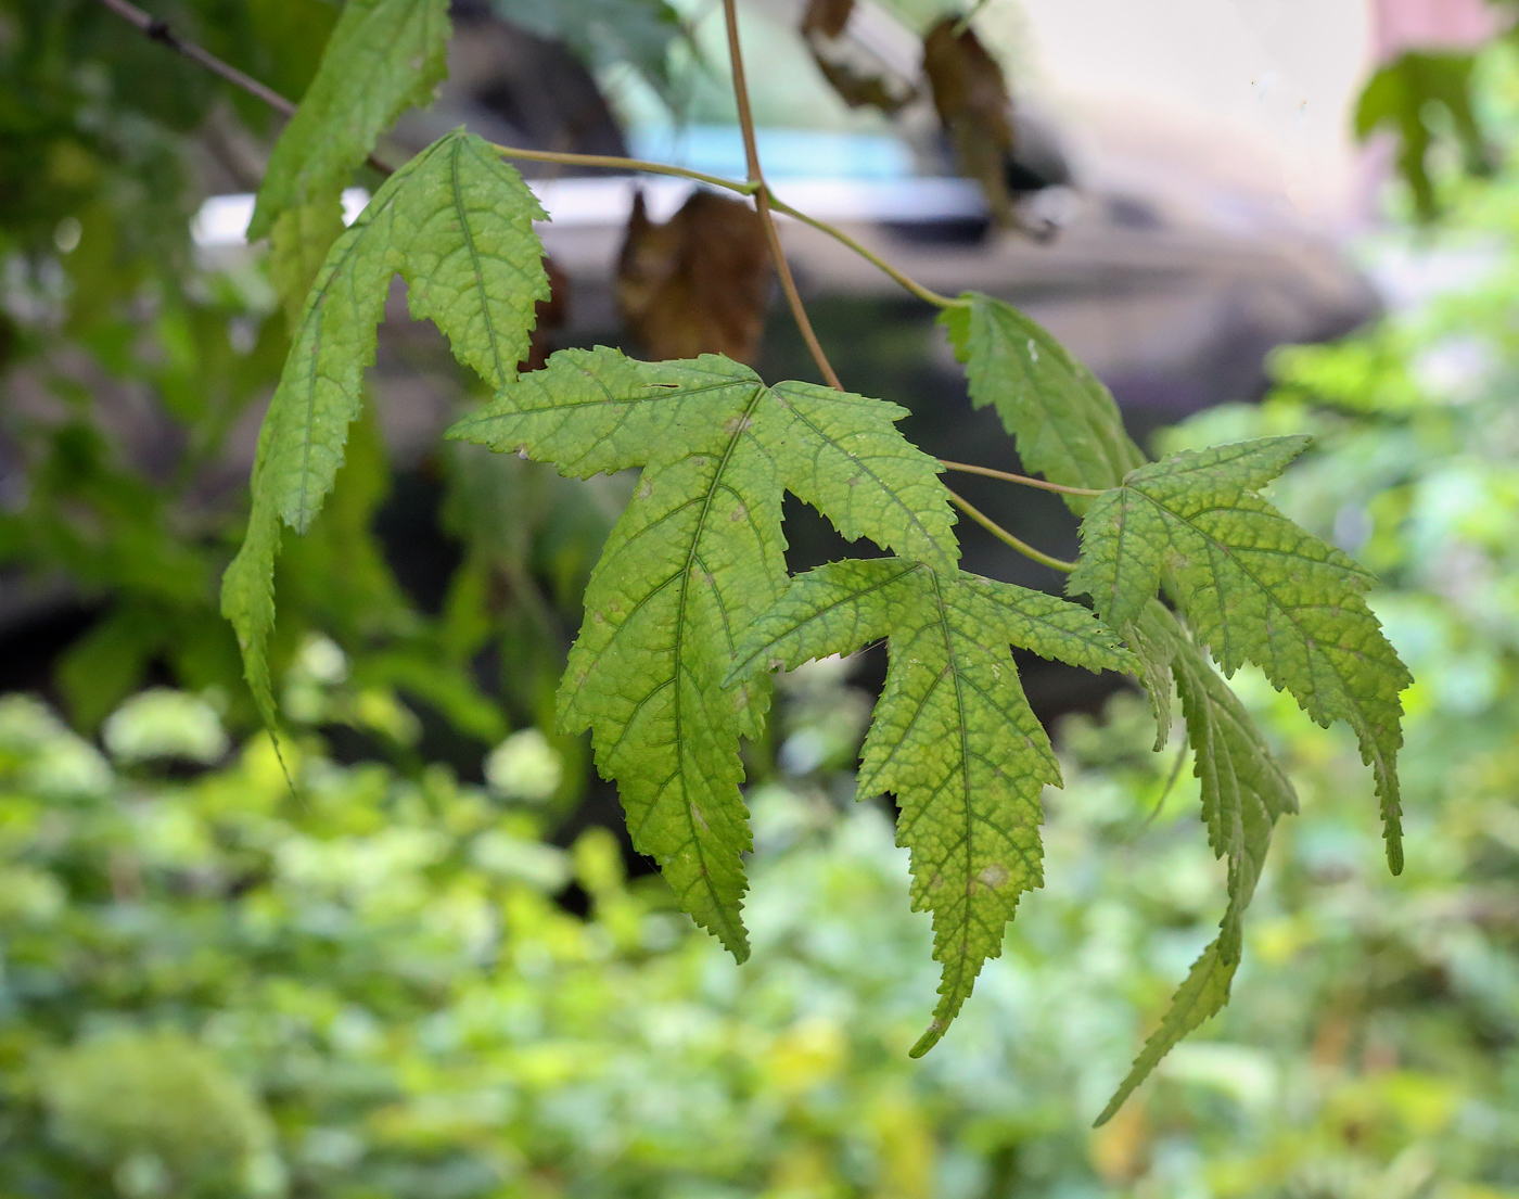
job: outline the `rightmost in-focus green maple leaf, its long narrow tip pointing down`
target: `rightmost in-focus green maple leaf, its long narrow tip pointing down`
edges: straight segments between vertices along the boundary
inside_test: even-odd
[[[1069,588],[1123,628],[1168,576],[1226,675],[1252,661],[1320,725],[1350,725],[1376,775],[1396,874],[1399,693],[1411,678],[1361,597],[1373,576],[1256,494],[1306,444],[1265,438],[1130,471],[1082,521],[1082,561]]]

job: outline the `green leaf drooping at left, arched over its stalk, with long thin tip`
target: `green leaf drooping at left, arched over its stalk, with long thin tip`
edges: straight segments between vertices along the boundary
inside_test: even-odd
[[[237,629],[249,687],[270,726],[279,524],[304,533],[333,486],[363,404],[392,275],[410,284],[412,315],[430,318],[460,362],[500,384],[516,374],[535,305],[548,298],[532,226],[541,219],[516,170],[480,138],[454,131],[392,175],[327,255],[258,435],[248,535],[222,581],[222,612]]]

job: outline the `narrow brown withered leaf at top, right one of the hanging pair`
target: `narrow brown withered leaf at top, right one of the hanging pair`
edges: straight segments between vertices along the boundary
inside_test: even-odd
[[[924,36],[924,74],[960,172],[981,185],[992,219],[1015,228],[1019,220],[1007,185],[1016,143],[1013,102],[996,59],[969,26],[955,32],[957,24],[945,17]]]

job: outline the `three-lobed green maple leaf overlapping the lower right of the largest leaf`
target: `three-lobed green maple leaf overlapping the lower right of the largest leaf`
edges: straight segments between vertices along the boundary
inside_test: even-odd
[[[863,749],[858,795],[896,795],[913,909],[931,910],[943,965],[927,1053],[981,963],[1001,953],[1022,892],[1041,884],[1042,789],[1060,767],[1009,644],[1089,670],[1133,660],[1086,608],[898,558],[832,562],[791,582],[753,625],[735,678],[767,663],[852,653],[887,638],[890,669]]]

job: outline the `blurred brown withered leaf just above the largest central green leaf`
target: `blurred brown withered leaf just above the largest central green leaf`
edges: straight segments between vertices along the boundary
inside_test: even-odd
[[[617,263],[617,301],[629,334],[653,360],[726,354],[752,363],[770,270],[764,225],[747,204],[696,191],[656,225],[639,193]]]

